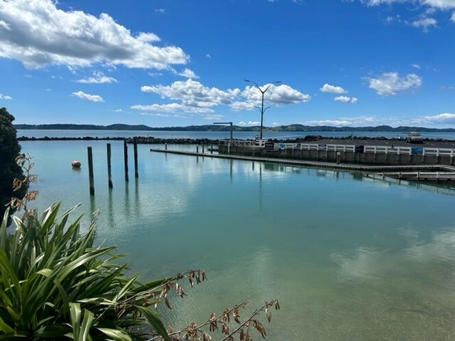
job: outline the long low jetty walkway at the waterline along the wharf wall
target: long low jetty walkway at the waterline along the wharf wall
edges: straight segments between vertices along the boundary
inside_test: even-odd
[[[359,173],[366,173],[371,177],[393,177],[395,179],[406,179],[415,181],[455,181],[455,166],[445,164],[421,164],[421,165],[378,165],[378,164],[340,164],[336,162],[322,162],[312,160],[284,159],[273,157],[262,157],[253,155],[235,154],[213,154],[199,153],[199,151],[177,151],[167,149],[150,149],[155,153],[171,153],[196,157],[214,157],[227,160],[243,160],[252,162],[271,162],[276,164],[288,164],[293,166],[306,166],[316,168],[333,168],[348,170]]]

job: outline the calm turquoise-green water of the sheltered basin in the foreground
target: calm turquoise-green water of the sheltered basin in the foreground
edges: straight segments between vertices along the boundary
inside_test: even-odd
[[[35,204],[82,203],[86,220],[99,208],[98,242],[128,253],[143,279],[204,268],[209,280],[184,283],[188,296],[165,312],[172,325],[278,298],[267,340],[455,340],[455,192],[146,145],[139,178],[130,160],[125,183],[123,144],[111,143],[108,190],[106,141],[22,142],[36,163]]]

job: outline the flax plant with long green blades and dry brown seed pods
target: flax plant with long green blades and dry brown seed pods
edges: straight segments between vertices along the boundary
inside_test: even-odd
[[[139,275],[127,275],[123,255],[115,247],[95,246],[96,216],[88,231],[81,233],[78,216],[70,215],[76,207],[59,216],[60,203],[54,203],[38,218],[27,203],[37,192],[29,191],[36,177],[30,174],[31,157],[21,155],[18,163],[25,168],[25,178],[14,181],[14,188],[23,186],[27,193],[12,199],[10,207],[25,210],[22,218],[13,216],[14,231],[9,233],[7,208],[0,225],[0,340],[212,340],[209,333],[217,329],[223,341],[251,341],[249,329],[256,329],[265,338],[265,329],[256,316],[269,308],[280,308],[277,300],[265,303],[249,318],[241,321],[239,308],[246,303],[212,314],[202,325],[190,323],[179,331],[166,329],[156,312],[164,303],[169,309],[169,292],[185,296],[180,281],[190,286],[206,280],[203,270],[140,283]],[[232,318],[237,326],[230,329]]]

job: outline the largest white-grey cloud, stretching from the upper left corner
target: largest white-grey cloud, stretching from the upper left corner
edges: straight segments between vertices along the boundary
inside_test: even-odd
[[[106,64],[167,69],[188,62],[180,47],[153,45],[159,41],[156,34],[134,36],[106,13],[95,17],[57,5],[52,0],[1,1],[0,57],[19,60],[27,68]]]

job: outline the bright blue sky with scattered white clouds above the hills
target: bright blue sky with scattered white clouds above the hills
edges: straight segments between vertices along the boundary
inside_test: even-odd
[[[454,60],[455,0],[0,0],[15,123],[454,127]]]

